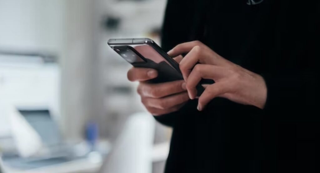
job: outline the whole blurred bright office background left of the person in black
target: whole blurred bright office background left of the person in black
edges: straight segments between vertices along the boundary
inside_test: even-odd
[[[165,0],[0,0],[0,172],[163,172],[148,114],[109,38],[160,45]]]

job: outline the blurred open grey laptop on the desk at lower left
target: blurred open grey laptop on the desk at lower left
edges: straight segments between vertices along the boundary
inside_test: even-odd
[[[75,156],[73,146],[63,141],[59,126],[48,109],[20,109],[19,112],[38,133],[49,152],[45,156],[36,158],[3,157],[6,165],[19,169],[35,169],[85,157]]]

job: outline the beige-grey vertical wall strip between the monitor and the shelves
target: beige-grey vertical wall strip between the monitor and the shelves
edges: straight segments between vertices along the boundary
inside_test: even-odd
[[[92,0],[66,0],[63,34],[61,108],[68,137],[80,138],[92,106]]]

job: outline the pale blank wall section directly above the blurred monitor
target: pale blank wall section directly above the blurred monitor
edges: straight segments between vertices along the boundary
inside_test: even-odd
[[[0,0],[0,49],[59,52],[63,0]]]

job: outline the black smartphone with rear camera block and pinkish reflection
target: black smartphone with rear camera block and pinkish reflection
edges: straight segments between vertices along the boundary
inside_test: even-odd
[[[149,38],[109,39],[108,45],[134,67],[157,70],[158,77],[149,80],[152,83],[183,80],[179,64]],[[204,91],[200,83],[196,89],[198,96]]]

